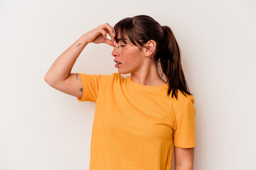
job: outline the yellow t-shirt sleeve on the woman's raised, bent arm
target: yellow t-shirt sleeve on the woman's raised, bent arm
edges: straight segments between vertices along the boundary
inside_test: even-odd
[[[82,98],[78,98],[78,101],[92,101],[96,103],[100,86],[110,77],[110,75],[78,74],[82,81],[83,91]]]

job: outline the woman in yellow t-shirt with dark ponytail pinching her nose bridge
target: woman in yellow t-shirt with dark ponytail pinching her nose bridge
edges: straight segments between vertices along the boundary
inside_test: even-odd
[[[107,39],[107,34],[111,40]],[[119,73],[70,73],[90,43],[114,47]],[[160,63],[166,81],[158,73]],[[125,79],[121,74],[131,73]],[[196,146],[194,98],[181,68],[178,43],[168,26],[149,16],[108,23],[82,35],[55,60],[45,81],[96,103],[90,169],[193,169]]]

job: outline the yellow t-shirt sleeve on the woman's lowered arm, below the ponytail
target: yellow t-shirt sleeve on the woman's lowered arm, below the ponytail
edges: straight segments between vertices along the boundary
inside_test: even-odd
[[[196,108],[194,98],[182,96],[173,104],[175,114],[174,146],[195,147],[196,146]]]

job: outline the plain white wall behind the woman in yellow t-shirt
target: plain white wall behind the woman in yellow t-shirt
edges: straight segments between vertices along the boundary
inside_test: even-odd
[[[255,169],[255,7],[253,0],[1,0],[0,169],[88,169],[95,103],[43,77],[82,34],[139,14],[170,26],[181,47],[195,97],[194,169]],[[111,52],[87,45],[72,72],[118,72]]]

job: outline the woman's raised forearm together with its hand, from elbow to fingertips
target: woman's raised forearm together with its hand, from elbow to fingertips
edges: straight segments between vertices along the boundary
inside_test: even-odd
[[[112,40],[107,39],[107,33],[110,35]],[[44,79],[50,85],[59,84],[70,76],[70,72],[75,64],[75,61],[78,59],[78,56],[85,48],[85,46],[94,42],[106,43],[114,47],[117,43],[114,41],[114,28],[108,23],[102,24],[97,28],[90,30],[88,33],[82,35],[78,40],[76,40],[73,45],[68,47],[56,60],[53,62],[53,65],[50,67],[46,73]]]

